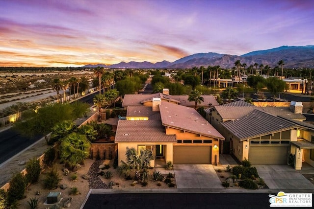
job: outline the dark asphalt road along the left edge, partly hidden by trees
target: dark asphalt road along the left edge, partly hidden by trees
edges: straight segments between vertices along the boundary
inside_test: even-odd
[[[79,101],[86,102],[92,106],[94,104],[93,98],[95,92],[89,94],[83,98],[78,99]],[[21,136],[17,131],[12,128],[0,132],[0,164],[10,159],[12,156],[24,150],[26,147],[41,139],[43,136],[37,136],[34,139],[29,139]]]

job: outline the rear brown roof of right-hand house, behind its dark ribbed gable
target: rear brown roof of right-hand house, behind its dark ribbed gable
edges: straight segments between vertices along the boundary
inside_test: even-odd
[[[295,114],[290,111],[289,107],[256,107],[256,106],[245,106],[245,107],[231,107],[231,106],[216,106],[215,109],[223,120],[237,119],[247,115],[253,110],[260,110],[269,113],[274,116],[285,116],[290,119],[306,119],[305,116],[298,113]]]

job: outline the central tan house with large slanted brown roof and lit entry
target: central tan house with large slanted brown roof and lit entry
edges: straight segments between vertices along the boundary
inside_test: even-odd
[[[115,136],[119,162],[125,160],[127,148],[134,147],[152,149],[164,162],[219,163],[219,143],[224,137],[195,109],[164,102],[160,97],[150,104],[129,106],[127,120],[119,120]]]

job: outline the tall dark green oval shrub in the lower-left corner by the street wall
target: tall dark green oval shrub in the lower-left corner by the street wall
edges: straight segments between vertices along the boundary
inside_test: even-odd
[[[10,181],[10,188],[8,189],[8,202],[12,205],[16,200],[21,200],[24,197],[26,189],[26,179],[21,173],[13,175]]]

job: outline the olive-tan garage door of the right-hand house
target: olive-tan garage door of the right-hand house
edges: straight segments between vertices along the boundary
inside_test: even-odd
[[[284,165],[288,162],[289,147],[251,146],[249,161],[256,165]]]

